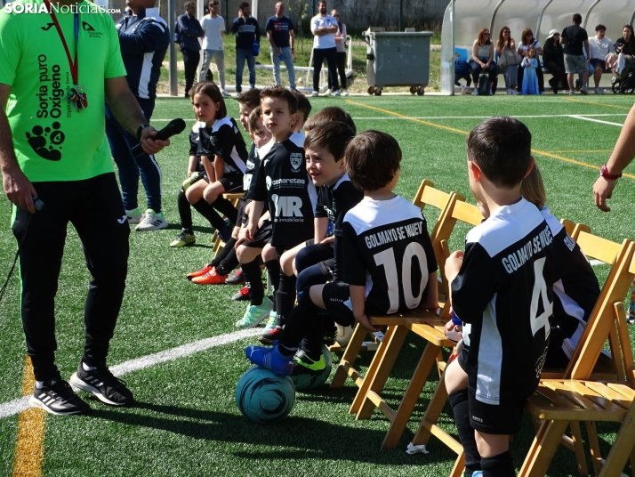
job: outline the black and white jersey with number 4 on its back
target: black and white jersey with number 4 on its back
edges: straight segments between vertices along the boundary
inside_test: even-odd
[[[468,233],[452,307],[465,322],[465,371],[477,400],[499,405],[535,391],[550,333],[554,255],[549,225],[524,198]]]

